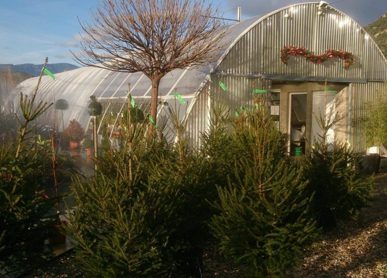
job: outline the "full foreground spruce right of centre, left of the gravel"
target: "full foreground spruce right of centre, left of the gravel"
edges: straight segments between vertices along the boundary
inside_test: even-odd
[[[286,137],[263,111],[239,117],[228,147],[228,186],[218,186],[211,228],[221,252],[251,277],[285,277],[315,237],[307,182],[286,154]]]

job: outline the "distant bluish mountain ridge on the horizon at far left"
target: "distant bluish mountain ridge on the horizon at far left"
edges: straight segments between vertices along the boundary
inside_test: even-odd
[[[12,64],[0,64],[0,71],[10,70],[12,72],[24,72],[32,76],[38,76],[40,71],[43,68],[42,65],[34,64],[21,64],[21,65],[12,65]],[[67,70],[78,69],[79,67],[67,63],[57,63],[57,64],[47,64],[47,70],[50,70],[52,73],[59,73]]]

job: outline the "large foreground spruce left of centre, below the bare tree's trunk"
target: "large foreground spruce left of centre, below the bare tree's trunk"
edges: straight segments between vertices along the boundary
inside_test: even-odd
[[[96,175],[74,180],[78,205],[68,233],[79,242],[76,258],[88,277],[163,277],[172,268],[165,250],[179,195],[148,180],[151,158],[168,149],[145,131],[129,125],[119,146],[104,146]]]

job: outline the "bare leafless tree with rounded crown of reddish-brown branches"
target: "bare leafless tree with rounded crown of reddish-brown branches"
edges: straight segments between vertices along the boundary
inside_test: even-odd
[[[149,114],[156,121],[161,78],[218,58],[224,24],[213,18],[217,12],[205,0],[103,0],[91,22],[81,23],[84,42],[73,55],[84,66],[144,73],[152,82]]]

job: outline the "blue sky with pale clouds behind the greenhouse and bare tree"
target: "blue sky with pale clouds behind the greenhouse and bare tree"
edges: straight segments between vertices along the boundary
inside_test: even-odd
[[[0,64],[70,63],[69,50],[79,51],[79,21],[87,22],[101,0],[0,0]],[[265,15],[278,8],[307,0],[213,0],[225,18]],[[329,2],[329,1],[327,1]],[[387,0],[333,0],[331,6],[361,26],[387,12]],[[78,21],[79,19],[79,21]],[[78,65],[79,66],[79,65]]]

